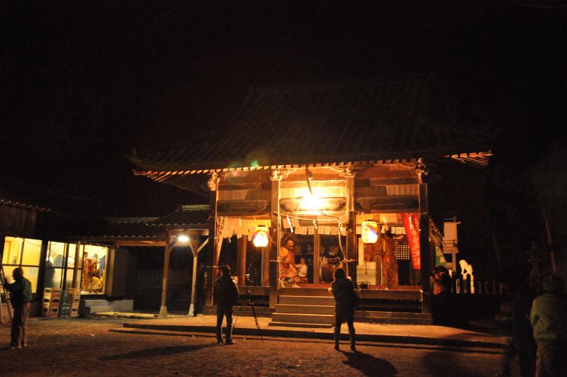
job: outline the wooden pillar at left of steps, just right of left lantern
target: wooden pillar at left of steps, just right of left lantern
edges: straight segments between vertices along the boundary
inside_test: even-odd
[[[269,251],[269,286],[270,298],[269,307],[276,308],[278,303],[279,285],[279,244],[281,225],[279,220],[279,188],[281,182],[281,171],[271,171],[271,230],[270,230],[270,251]]]

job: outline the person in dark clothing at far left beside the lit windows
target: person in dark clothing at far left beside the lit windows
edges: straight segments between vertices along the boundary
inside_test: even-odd
[[[31,302],[31,283],[23,277],[23,269],[18,267],[12,272],[13,283],[6,283],[5,288],[10,292],[10,301],[13,307],[13,319],[11,330],[11,349],[28,347],[26,332],[28,330],[28,315],[30,315]]]

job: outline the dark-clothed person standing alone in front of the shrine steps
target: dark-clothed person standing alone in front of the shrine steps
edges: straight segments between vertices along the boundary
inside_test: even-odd
[[[341,325],[347,322],[349,327],[350,349],[357,351],[355,332],[354,332],[354,308],[357,306],[357,292],[354,290],[354,284],[347,278],[344,269],[336,269],[335,280],[331,284],[330,290],[335,298],[335,349],[339,350],[339,337],[341,334]]]

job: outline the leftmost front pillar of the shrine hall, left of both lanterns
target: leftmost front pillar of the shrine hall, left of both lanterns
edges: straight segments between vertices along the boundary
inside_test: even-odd
[[[217,249],[217,201],[218,201],[218,175],[211,174],[208,181],[210,189],[209,208],[210,218],[208,220],[208,247],[206,255],[207,281],[205,290],[206,305],[213,305],[213,285],[215,283],[217,266],[216,266],[216,249]],[[222,242],[222,240],[220,240]]]

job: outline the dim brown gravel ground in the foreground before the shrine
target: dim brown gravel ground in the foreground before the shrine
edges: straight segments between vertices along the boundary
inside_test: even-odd
[[[122,334],[123,318],[29,322],[27,349],[0,350],[0,375],[64,376],[495,376],[503,354],[410,344],[360,344],[352,353],[304,339],[243,339],[217,346],[212,334]],[[132,322],[132,320],[128,320]],[[9,344],[9,325],[0,339]]]

